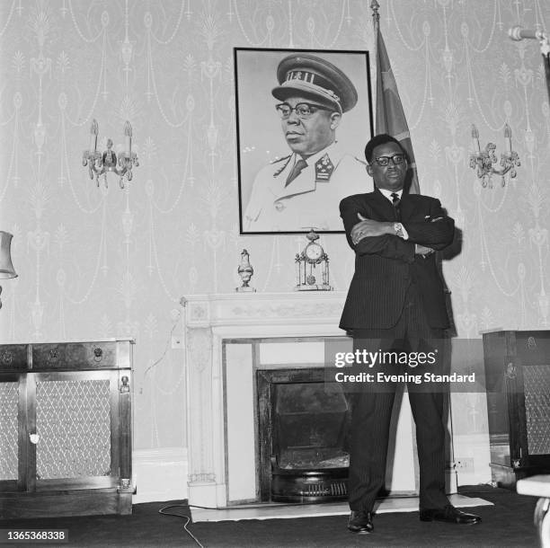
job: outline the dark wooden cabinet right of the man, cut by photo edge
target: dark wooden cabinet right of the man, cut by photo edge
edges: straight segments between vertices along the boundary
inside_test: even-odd
[[[550,473],[550,331],[483,333],[492,482]]]

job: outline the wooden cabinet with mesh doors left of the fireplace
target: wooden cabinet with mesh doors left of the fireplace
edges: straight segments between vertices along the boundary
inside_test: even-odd
[[[132,347],[0,345],[0,518],[131,513]]]

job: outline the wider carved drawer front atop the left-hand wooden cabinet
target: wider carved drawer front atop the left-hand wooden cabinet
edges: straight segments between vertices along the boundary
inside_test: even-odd
[[[117,343],[60,342],[32,345],[32,369],[103,369],[117,367]]]

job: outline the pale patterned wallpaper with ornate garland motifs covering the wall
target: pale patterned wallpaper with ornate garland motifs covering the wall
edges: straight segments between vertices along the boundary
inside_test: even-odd
[[[3,283],[1,339],[137,338],[136,446],[184,446],[179,299],[233,291],[245,247],[258,290],[287,291],[302,237],[239,236],[233,48],[372,49],[366,0],[5,0],[0,4],[0,228],[19,278]],[[445,261],[457,332],[548,328],[550,110],[537,42],[545,0],[381,0],[381,29],[412,133],[421,190],[456,218]],[[121,190],[81,164],[99,145],[140,166]],[[483,189],[468,166],[471,124],[518,177]],[[119,148],[117,148],[119,146]],[[336,204],[334,204],[336,207]],[[333,284],[353,256],[323,237]],[[455,428],[483,431],[483,394]],[[480,407],[482,406],[482,407]],[[460,411],[460,412],[459,412]],[[465,411],[465,412],[462,412]]]

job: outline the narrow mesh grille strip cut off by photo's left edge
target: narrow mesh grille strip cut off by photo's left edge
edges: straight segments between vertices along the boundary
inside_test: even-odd
[[[18,383],[0,383],[0,480],[17,479]]]

